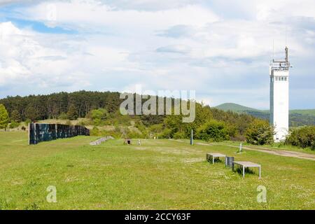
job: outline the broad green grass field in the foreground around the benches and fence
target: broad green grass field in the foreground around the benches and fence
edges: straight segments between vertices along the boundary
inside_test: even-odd
[[[0,209],[315,209],[311,160],[170,140],[90,146],[94,139],[27,146],[26,132],[0,132]],[[258,162],[262,179],[211,165],[207,152]],[[46,201],[48,186],[57,203]],[[257,202],[258,186],[267,203]]]

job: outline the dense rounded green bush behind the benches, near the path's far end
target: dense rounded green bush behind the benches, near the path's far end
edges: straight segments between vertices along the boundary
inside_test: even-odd
[[[209,120],[197,129],[197,139],[204,141],[224,141],[230,139],[228,128],[223,121]]]

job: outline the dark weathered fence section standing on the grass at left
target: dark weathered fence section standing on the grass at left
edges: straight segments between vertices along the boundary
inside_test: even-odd
[[[78,125],[57,125],[29,123],[29,144],[38,144],[41,141],[52,141],[76,137],[78,135],[90,135],[90,130]]]

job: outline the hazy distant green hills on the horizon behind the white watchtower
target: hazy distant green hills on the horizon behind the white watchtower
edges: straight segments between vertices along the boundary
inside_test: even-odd
[[[223,111],[233,111],[235,113],[246,113],[255,118],[269,120],[269,111],[253,109],[239,104],[225,103],[216,106],[216,109]],[[298,127],[303,125],[315,125],[315,109],[308,110],[290,110],[289,111],[290,127]]]

